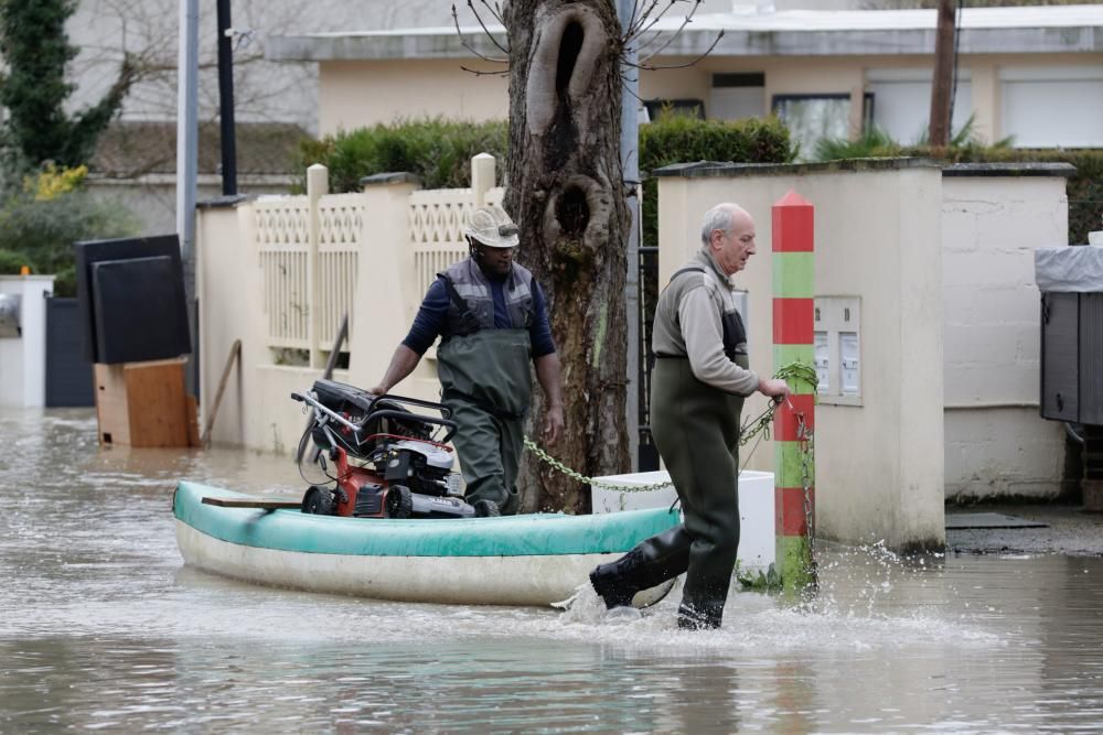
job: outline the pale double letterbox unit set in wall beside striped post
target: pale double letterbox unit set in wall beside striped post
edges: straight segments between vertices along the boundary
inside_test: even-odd
[[[814,329],[820,402],[861,406],[861,299],[816,296]]]

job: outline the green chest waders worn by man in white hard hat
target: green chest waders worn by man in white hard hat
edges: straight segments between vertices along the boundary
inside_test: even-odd
[[[528,329],[480,329],[449,337],[437,349],[441,401],[458,424],[465,499],[492,500],[502,515],[517,512],[517,467],[524,420],[532,404]]]

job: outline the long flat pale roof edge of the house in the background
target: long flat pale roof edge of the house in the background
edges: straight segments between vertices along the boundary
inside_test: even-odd
[[[962,54],[1103,53],[1103,6],[966,8],[962,11]],[[934,51],[934,10],[731,12],[699,15],[678,32],[682,18],[654,26],[660,56],[699,56],[720,31],[714,56],[864,56],[930,54]],[[489,31],[503,46],[505,31]],[[479,26],[424,28],[372,32],[308,33],[269,37],[272,61],[365,61],[473,58],[464,44],[485,56],[502,52]]]

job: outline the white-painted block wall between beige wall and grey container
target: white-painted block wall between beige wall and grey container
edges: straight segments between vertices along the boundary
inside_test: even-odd
[[[946,497],[1051,498],[1064,433],[1039,415],[1034,250],[1069,241],[1065,179],[959,173],[942,197]]]

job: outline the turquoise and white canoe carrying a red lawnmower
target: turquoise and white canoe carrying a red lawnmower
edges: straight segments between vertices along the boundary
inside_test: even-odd
[[[212,505],[253,497],[181,482],[172,508],[184,562],[257,584],[407,602],[549,605],[596,565],[681,522],[667,508],[397,520]]]

